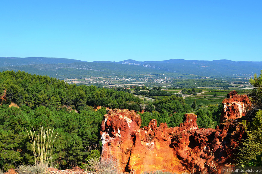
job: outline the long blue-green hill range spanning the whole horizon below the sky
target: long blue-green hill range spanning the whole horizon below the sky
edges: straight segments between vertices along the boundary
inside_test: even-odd
[[[89,76],[139,76],[148,74],[170,78],[223,78],[253,77],[260,74],[262,61],[197,61],[171,59],[164,61],[94,61],[86,62],[67,58],[13,58],[0,57],[0,70],[26,71],[60,79],[86,78]]]

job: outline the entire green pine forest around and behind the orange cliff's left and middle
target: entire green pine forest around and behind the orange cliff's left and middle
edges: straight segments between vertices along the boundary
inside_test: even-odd
[[[54,144],[53,161],[59,169],[85,162],[93,149],[100,150],[100,127],[106,107],[138,112],[142,99],[123,88],[97,88],[68,84],[48,76],[17,71],[0,73],[0,168],[7,170],[19,164],[33,164],[27,130],[54,129],[58,136]],[[11,103],[18,107],[9,107]],[[101,106],[95,111],[94,108]],[[148,102],[141,127],[151,119],[174,127],[185,113],[198,115],[198,126],[207,128],[218,124],[220,105],[185,104],[182,97],[164,96]],[[77,112],[75,112],[75,110]],[[33,127],[33,128],[32,128]]]

